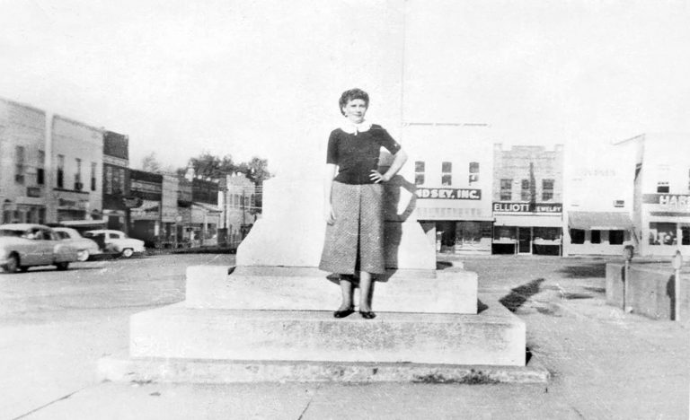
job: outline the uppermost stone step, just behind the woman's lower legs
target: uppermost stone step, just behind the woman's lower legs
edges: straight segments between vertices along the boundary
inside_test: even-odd
[[[187,268],[188,308],[334,311],[341,303],[337,276],[306,267]],[[355,293],[358,302],[358,289]],[[374,283],[381,312],[477,312],[477,275],[462,269],[397,270]]]

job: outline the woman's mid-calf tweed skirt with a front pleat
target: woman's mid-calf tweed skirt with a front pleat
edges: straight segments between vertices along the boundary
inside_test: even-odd
[[[319,268],[337,274],[385,273],[384,186],[333,181],[335,223],[326,225]]]

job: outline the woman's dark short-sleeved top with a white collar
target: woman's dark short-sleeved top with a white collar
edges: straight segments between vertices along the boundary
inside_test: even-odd
[[[368,131],[360,131],[357,136],[336,128],[328,139],[326,163],[338,165],[335,180],[343,184],[373,184],[369,178],[371,171],[378,169],[378,156],[381,147],[390,153],[398,153],[398,144],[384,127],[373,124]]]

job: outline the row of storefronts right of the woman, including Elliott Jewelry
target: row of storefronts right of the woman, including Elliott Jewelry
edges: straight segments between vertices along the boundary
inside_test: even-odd
[[[690,252],[690,136],[633,137],[571,162],[566,173],[560,144],[504,149],[487,127],[405,128],[416,160],[417,220],[441,252]]]

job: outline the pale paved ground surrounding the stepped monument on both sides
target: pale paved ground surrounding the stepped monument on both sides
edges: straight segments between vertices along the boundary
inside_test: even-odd
[[[463,258],[480,299],[526,320],[547,385],[98,383],[128,315],[179,302],[189,265],[231,255],[75,264],[0,276],[0,418],[686,418],[687,330],[604,302],[602,259]]]

